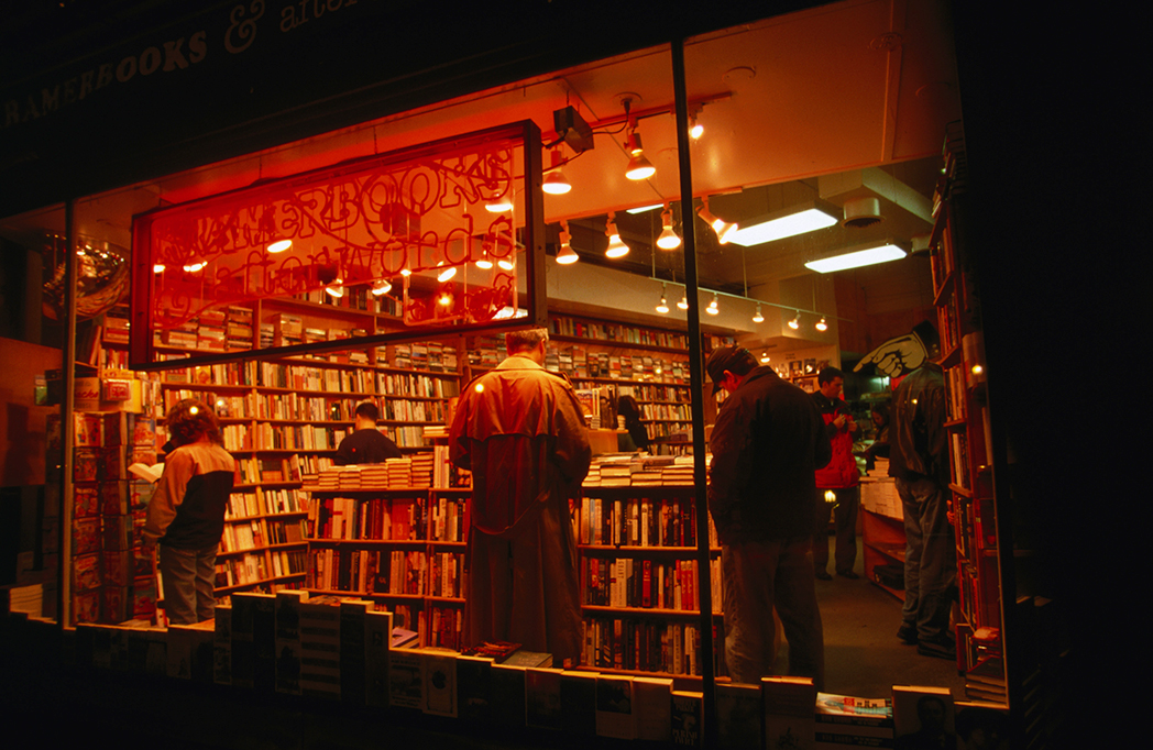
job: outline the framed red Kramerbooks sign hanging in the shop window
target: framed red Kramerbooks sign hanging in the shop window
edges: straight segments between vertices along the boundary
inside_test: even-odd
[[[140,214],[131,364],[544,325],[540,179],[523,121]]]

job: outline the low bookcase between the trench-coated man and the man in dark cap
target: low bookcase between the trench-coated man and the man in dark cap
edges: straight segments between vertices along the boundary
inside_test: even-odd
[[[585,666],[701,674],[698,524],[692,463],[671,456],[595,461],[575,515]],[[719,543],[711,518],[714,667],[719,643]]]

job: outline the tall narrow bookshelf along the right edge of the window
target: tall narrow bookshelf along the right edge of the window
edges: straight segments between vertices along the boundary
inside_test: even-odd
[[[932,267],[945,380],[945,431],[957,541],[958,668],[972,698],[1004,702],[996,503],[993,494],[980,310],[965,258],[964,138],[951,131],[934,196]]]

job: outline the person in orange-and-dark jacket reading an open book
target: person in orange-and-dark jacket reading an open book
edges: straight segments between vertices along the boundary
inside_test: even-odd
[[[175,447],[149,501],[144,546],[160,545],[168,621],[195,624],[216,614],[216,556],[236,463],[204,403],[184,399],[168,410],[165,425]]]

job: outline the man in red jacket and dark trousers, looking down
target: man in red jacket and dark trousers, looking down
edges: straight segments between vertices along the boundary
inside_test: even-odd
[[[841,399],[845,374],[837,368],[823,368],[816,374],[817,391],[813,403],[824,419],[824,430],[832,445],[832,459],[823,469],[816,470],[816,525],[813,531],[814,575],[829,581],[829,493],[832,493],[832,521],[836,532],[834,567],[838,576],[858,577],[853,573],[857,563],[857,508],[860,506],[860,472],[853,456],[853,433],[857,423],[849,411],[849,404]]]

